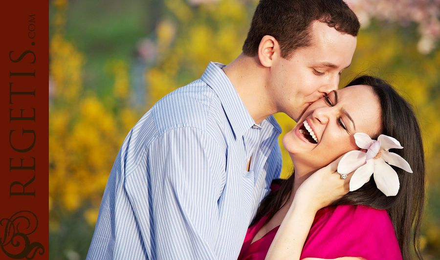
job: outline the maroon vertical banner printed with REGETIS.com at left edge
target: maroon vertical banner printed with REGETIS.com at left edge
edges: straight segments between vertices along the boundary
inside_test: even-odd
[[[49,259],[49,4],[1,5],[0,259]]]

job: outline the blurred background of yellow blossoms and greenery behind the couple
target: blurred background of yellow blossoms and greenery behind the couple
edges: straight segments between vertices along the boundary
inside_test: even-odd
[[[427,163],[421,244],[440,259],[440,0],[347,0],[362,28],[340,86],[368,71],[415,107]],[[49,258],[85,259],[119,148],[161,97],[240,53],[257,0],[53,0]],[[295,125],[275,115],[283,132]],[[280,141],[283,135],[280,137]],[[280,142],[281,145],[281,142]],[[283,151],[282,177],[291,173]]]

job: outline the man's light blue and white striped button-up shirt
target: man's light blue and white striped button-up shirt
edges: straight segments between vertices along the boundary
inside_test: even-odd
[[[129,132],[88,260],[237,259],[257,206],[280,176],[281,128],[273,116],[255,124],[222,66],[210,63]]]

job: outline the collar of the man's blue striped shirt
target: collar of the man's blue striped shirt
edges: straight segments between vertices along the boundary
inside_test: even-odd
[[[225,65],[221,63],[210,62],[201,76],[201,80],[211,87],[219,97],[221,105],[223,106],[232,130],[237,138],[237,136],[242,136],[246,130],[255,125],[255,121],[244,106],[237,90],[226,74],[221,70],[224,66]],[[265,120],[268,120],[270,125],[281,133],[281,127],[272,115],[264,119],[264,121]]]

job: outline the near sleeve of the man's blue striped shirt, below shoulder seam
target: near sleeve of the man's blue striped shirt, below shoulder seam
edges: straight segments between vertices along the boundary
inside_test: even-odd
[[[147,149],[125,188],[148,258],[217,259],[225,152],[190,127],[165,132]]]

